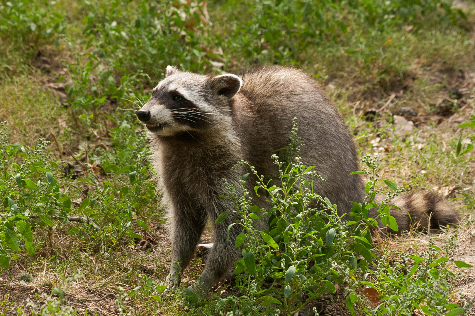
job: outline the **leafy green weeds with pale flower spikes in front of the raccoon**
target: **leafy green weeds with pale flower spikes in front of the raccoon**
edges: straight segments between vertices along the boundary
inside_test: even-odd
[[[296,131],[294,121],[289,137],[291,144],[280,158],[285,162],[279,161],[277,155],[273,156],[280,170],[279,185],[275,181],[265,182],[243,161],[239,165],[247,164],[251,172],[243,176],[240,190],[227,185],[236,207],[224,212],[215,223],[224,220],[229,212],[241,215],[241,220],[231,226],[243,228],[235,241],[236,247],[243,249],[243,258],[236,262],[233,293],[226,298],[215,296],[217,311],[232,311],[233,315],[269,315],[278,309],[283,315],[294,315],[323,293],[332,297],[336,284],[347,286],[346,304],[352,315],[355,315],[353,304],[357,300],[367,315],[374,315],[357,292],[357,285],[379,291],[382,305],[374,311],[378,315],[411,315],[415,308],[422,308],[428,315],[440,315],[437,313],[446,309],[465,311],[459,305],[447,302],[457,278],[445,265],[452,256],[456,235],[452,236],[445,252],[431,244],[427,259],[410,256],[415,260],[413,266],[409,266],[410,260],[406,257],[396,266],[388,262],[386,254],[379,258],[371,243],[372,227],[380,220],[384,226],[398,231],[396,220],[389,214],[389,203],[403,190],[391,181],[379,180],[378,158],[367,156],[363,162],[370,169],[353,172],[370,178],[365,188],[367,196],[361,203],[353,202],[348,214],[352,220],[342,220],[343,216],[337,214],[337,206],[314,192],[314,180],[323,179],[312,171],[314,166],[305,166],[298,157],[302,144]],[[252,205],[245,188],[249,174],[259,179],[254,190],[266,194],[269,209]],[[378,189],[378,182],[390,190]],[[240,191],[244,192],[243,196],[237,194]],[[385,199],[377,200],[378,193],[384,193]],[[319,208],[312,208],[313,203]],[[368,216],[371,208],[378,209],[377,217]],[[255,228],[253,223],[260,220],[268,221],[268,230]],[[465,262],[454,263],[457,267],[470,267]],[[371,269],[372,265],[378,265],[378,270]],[[195,306],[199,304],[202,303],[194,303]]]

